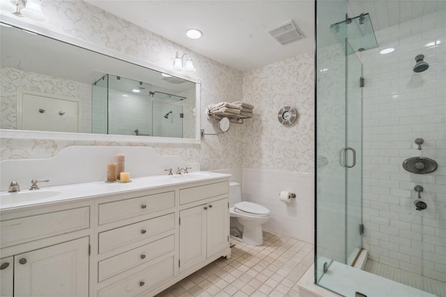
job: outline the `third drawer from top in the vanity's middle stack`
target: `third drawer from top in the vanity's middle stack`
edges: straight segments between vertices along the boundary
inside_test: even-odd
[[[175,236],[167,236],[163,239],[153,241],[139,248],[116,255],[99,262],[98,281],[126,271],[135,266],[145,264],[161,255],[175,250]]]

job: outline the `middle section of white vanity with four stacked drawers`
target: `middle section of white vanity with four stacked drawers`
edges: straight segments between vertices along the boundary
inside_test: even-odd
[[[174,280],[174,188],[111,195],[96,203],[97,296],[137,296]]]

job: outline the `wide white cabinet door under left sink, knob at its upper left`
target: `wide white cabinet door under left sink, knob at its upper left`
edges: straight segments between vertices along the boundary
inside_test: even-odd
[[[15,296],[89,296],[89,238],[15,255]]]

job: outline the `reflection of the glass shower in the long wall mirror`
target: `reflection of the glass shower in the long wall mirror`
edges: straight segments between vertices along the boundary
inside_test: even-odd
[[[186,99],[153,91],[150,83],[105,74],[92,86],[92,131],[95,134],[183,138],[183,109],[190,108],[192,102]]]

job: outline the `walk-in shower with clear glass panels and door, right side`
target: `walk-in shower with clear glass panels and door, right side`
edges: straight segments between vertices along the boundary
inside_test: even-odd
[[[315,71],[314,282],[446,296],[446,2],[316,1]]]

